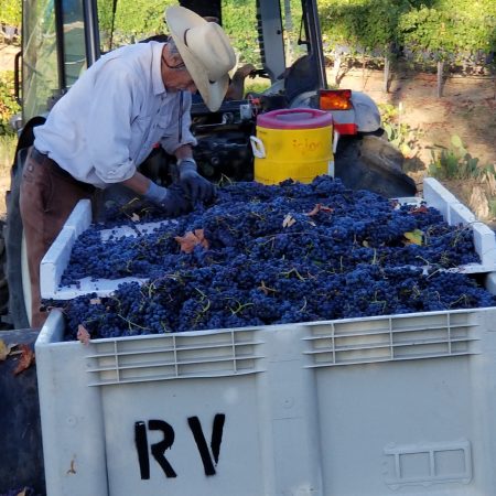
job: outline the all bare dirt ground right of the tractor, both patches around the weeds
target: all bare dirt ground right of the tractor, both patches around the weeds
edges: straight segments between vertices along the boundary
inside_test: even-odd
[[[330,79],[330,83],[332,79]],[[402,107],[401,119],[416,137],[414,157],[406,161],[406,170],[422,190],[432,152],[450,148],[452,136],[459,136],[479,165],[496,168],[496,79],[487,76],[450,76],[444,80],[442,97],[438,97],[435,74],[395,74],[389,91],[384,91],[381,71],[352,69],[342,75],[341,88],[360,90],[377,104]],[[443,181],[444,185],[484,222],[496,219],[490,202],[496,200],[494,185],[471,181]]]

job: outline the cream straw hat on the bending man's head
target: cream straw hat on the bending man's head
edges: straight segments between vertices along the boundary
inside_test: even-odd
[[[229,85],[236,55],[223,29],[184,7],[169,7],[165,22],[205,105],[215,111]]]

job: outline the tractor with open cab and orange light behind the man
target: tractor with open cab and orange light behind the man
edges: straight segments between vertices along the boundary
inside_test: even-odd
[[[225,2],[220,0],[180,3],[223,24]],[[110,32],[108,22],[105,30],[99,22],[104,7],[111,11]],[[150,40],[118,33],[114,29],[118,8],[118,0],[111,3],[108,0],[23,2],[22,51],[14,68],[22,116],[18,121],[19,141],[3,229],[9,287],[9,314],[3,319],[14,328],[30,327],[26,309],[31,296],[19,187],[28,149],[34,140],[33,129],[44,122],[53,104],[71,90],[79,75],[103,53],[119,43]],[[293,10],[289,11],[290,8]],[[401,153],[382,137],[376,104],[363,93],[328,87],[316,0],[300,3],[256,0],[252,12],[252,39],[258,41],[259,50],[248,77],[257,76],[267,84],[262,90],[249,91],[244,87],[245,80],[236,82],[235,75],[234,83],[241,93],[235,99],[226,98],[216,112],[211,112],[201,99],[194,100],[192,131],[198,141],[194,155],[201,173],[214,182],[224,177],[254,180],[250,137],[256,132],[257,116],[274,109],[319,108],[333,115],[336,177],[347,187],[371,190],[388,197],[414,195],[416,184],[402,171]],[[295,26],[292,37],[289,20]],[[229,32],[229,26],[224,28]],[[152,34],[151,39],[163,39],[166,26],[164,33]],[[168,184],[173,161],[162,149],[154,149],[140,170],[152,180]],[[112,194],[111,187],[106,191],[109,197]]]

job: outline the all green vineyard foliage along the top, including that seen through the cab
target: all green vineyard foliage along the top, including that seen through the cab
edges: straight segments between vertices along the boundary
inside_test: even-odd
[[[300,0],[288,1],[292,8],[300,4]],[[112,0],[98,1],[106,34],[112,26]],[[176,3],[176,0],[118,0],[114,44],[163,32],[163,10]],[[336,53],[389,58],[402,55],[422,63],[495,65],[494,0],[320,0],[319,10],[324,47],[330,56]],[[285,21],[285,29],[300,24],[296,18],[290,23]],[[0,22],[20,26],[20,0],[0,0]],[[252,36],[255,23],[255,0],[223,0],[223,24],[246,62],[254,62],[258,53]]]

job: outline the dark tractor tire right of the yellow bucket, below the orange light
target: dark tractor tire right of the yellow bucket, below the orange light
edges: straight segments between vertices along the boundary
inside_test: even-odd
[[[388,198],[414,196],[417,185],[403,172],[403,155],[377,136],[339,138],[335,176],[352,190],[368,190]]]

